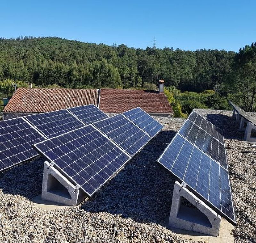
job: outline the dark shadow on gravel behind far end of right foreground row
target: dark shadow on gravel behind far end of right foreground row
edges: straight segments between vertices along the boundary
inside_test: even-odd
[[[224,138],[244,139],[244,131],[239,131],[240,123],[236,123],[236,118],[222,114],[208,114],[207,120],[223,131]]]

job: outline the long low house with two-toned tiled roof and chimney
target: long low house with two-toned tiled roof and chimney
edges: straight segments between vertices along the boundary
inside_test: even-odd
[[[5,120],[88,104],[94,104],[106,113],[121,113],[140,107],[152,115],[173,115],[163,92],[164,81],[159,81],[158,85],[158,91],[18,88],[4,107],[3,116]]]

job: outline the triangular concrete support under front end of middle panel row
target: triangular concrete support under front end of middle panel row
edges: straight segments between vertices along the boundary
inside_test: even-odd
[[[76,206],[86,198],[86,194],[76,188],[49,162],[45,161],[41,198],[47,201]]]

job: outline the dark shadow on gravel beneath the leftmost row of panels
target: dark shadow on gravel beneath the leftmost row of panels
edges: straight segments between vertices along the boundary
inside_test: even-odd
[[[0,173],[0,190],[4,194],[21,195],[29,200],[42,191],[45,159],[41,156]]]

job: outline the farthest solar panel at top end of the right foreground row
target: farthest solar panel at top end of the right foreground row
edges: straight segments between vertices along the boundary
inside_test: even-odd
[[[210,121],[197,114],[195,111],[188,116],[190,121],[193,121],[198,127],[209,133],[212,137],[216,138],[220,143],[224,144],[223,132],[220,128],[214,126]]]

